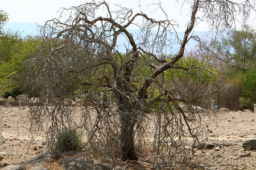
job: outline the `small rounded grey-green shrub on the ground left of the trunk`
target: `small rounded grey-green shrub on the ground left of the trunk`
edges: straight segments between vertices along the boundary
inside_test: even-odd
[[[81,134],[74,128],[65,128],[56,135],[54,150],[59,152],[78,151],[82,148]]]

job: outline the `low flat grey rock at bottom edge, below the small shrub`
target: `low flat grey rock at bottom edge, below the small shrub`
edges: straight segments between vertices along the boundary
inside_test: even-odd
[[[62,159],[59,163],[63,166],[65,170],[110,170],[110,168],[106,165],[93,163],[93,160],[86,159],[84,157],[68,157]]]

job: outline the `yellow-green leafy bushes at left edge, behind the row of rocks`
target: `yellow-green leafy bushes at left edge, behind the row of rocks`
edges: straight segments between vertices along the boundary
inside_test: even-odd
[[[18,32],[0,36],[0,96],[19,95],[22,63],[35,56],[40,44],[39,37],[22,37]]]

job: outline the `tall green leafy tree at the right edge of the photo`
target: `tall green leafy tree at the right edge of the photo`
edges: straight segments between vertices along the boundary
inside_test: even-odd
[[[253,109],[253,103],[255,103],[252,94],[255,94],[256,84],[254,84],[253,79],[249,80],[249,77],[255,77],[253,71],[256,67],[255,38],[255,29],[249,27],[249,25],[243,25],[241,30],[234,29],[222,33],[220,40],[211,41],[203,49],[209,59],[208,61],[214,62],[215,66],[219,68],[220,86],[226,84],[225,87],[237,89],[238,93],[235,97],[237,101],[224,99],[236,103],[237,106],[233,107],[236,110],[239,109],[239,103],[240,109]],[[222,94],[226,96],[229,92]],[[222,107],[228,107],[228,105],[222,105]]]

